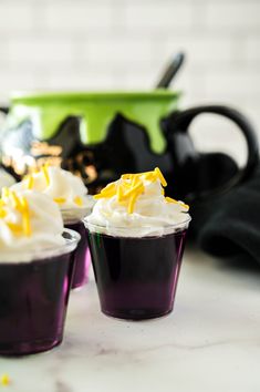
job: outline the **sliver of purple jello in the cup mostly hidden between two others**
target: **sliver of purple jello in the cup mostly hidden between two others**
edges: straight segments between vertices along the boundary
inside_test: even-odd
[[[91,254],[89,247],[87,233],[82,221],[65,225],[66,228],[77,231],[81,240],[74,250],[74,272],[72,278],[72,289],[82,287],[87,282],[89,269],[91,265]]]

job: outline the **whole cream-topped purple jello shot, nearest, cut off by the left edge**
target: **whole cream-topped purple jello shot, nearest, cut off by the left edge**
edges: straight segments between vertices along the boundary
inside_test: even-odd
[[[0,199],[0,354],[42,352],[63,339],[77,233],[48,196],[4,189]]]

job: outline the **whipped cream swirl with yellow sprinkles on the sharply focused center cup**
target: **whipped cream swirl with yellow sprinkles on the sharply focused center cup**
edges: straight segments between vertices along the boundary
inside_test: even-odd
[[[86,226],[91,231],[121,237],[160,236],[187,228],[189,207],[165,197],[162,183],[166,186],[157,168],[123,175],[94,196],[97,202]]]

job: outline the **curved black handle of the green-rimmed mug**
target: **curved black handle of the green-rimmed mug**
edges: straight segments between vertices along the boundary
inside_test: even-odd
[[[169,116],[169,127],[168,131],[169,134],[171,133],[171,136],[174,134],[180,136],[184,138],[184,143],[189,144],[188,151],[187,151],[187,156],[191,157],[191,162],[198,162],[200,158],[200,154],[196,153],[193,146],[193,141],[188,136],[188,128],[190,123],[194,121],[195,117],[197,117],[199,114],[204,113],[210,113],[210,114],[219,114],[223,117],[227,117],[231,120],[232,122],[236,123],[236,125],[239,127],[239,130],[242,132],[245,140],[247,142],[247,147],[248,147],[248,158],[247,163],[243,168],[237,169],[236,174],[230,178],[228,182],[219,186],[217,189],[207,189],[202,192],[201,194],[197,195],[196,198],[200,198],[204,196],[211,196],[215,195],[218,192],[226,192],[233,187],[235,185],[245,182],[247,178],[250,177],[252,174],[253,169],[256,168],[257,164],[259,163],[259,148],[258,148],[258,138],[256,131],[253,130],[252,125],[250,122],[247,120],[246,116],[243,116],[240,112],[238,112],[235,109],[222,106],[222,105],[205,105],[205,106],[196,106],[191,107],[188,110],[185,110],[183,112],[174,112]],[[179,148],[181,151],[181,148]],[[185,158],[185,157],[183,157]]]

